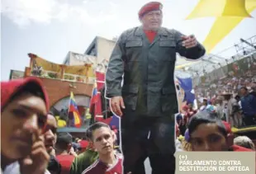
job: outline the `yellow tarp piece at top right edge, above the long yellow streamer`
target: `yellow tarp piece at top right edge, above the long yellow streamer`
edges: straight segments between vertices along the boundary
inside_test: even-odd
[[[187,19],[206,16],[251,17],[245,9],[245,0],[201,0]]]

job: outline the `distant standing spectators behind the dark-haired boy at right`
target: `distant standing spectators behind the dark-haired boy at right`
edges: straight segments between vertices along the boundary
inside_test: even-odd
[[[187,124],[193,115],[199,111],[208,111],[216,113],[216,117],[220,120],[225,120],[231,127],[244,127],[256,125],[256,90],[249,91],[247,87],[240,87],[239,95],[235,97],[230,93],[220,93],[218,96],[211,98],[203,98],[199,102],[197,109],[192,103],[187,103],[183,106],[183,110],[177,117],[178,126],[182,134],[187,129]]]

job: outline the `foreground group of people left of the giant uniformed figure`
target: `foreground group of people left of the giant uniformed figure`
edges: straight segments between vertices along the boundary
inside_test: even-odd
[[[1,82],[1,173],[121,173],[122,156],[109,125],[95,123],[86,139],[73,142],[71,134],[57,133],[57,120],[49,108],[39,78]],[[97,167],[87,172],[93,162]]]

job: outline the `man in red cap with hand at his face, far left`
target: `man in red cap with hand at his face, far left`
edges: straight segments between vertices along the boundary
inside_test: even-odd
[[[1,82],[2,173],[44,174],[49,154],[44,139],[49,99],[38,78]]]

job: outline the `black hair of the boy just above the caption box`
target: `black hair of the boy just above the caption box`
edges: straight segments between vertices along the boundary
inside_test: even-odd
[[[218,119],[216,113],[209,113],[206,111],[199,111],[196,115],[192,117],[188,124],[188,132],[189,137],[191,134],[197,129],[197,127],[201,124],[216,124],[218,125],[218,129],[220,133],[227,137],[227,130],[225,129],[225,125],[222,123],[222,120]]]

